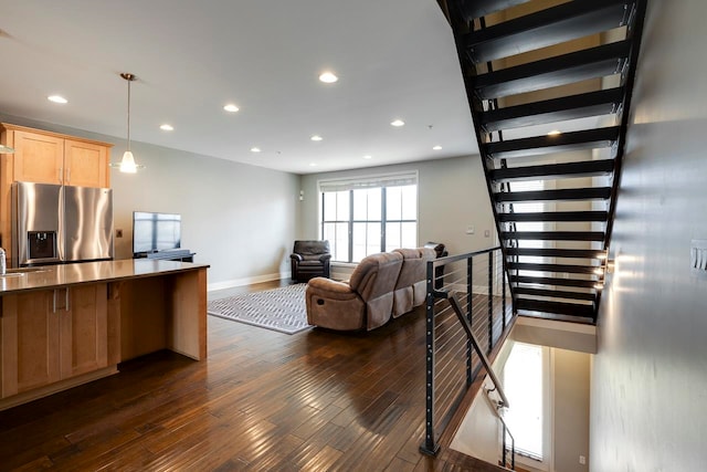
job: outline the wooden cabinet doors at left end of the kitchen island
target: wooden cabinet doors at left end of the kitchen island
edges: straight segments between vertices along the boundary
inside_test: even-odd
[[[108,366],[107,284],[2,297],[0,398]]]

